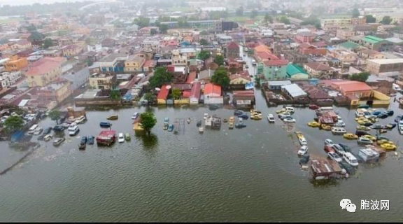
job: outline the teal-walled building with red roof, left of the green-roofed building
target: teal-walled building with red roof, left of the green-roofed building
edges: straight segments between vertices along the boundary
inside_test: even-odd
[[[287,79],[286,59],[274,59],[263,62],[263,75],[265,80],[284,80]]]

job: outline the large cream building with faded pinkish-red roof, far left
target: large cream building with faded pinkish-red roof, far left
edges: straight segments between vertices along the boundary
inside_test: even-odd
[[[62,75],[62,57],[43,57],[29,65],[27,83],[29,87],[44,87]]]

